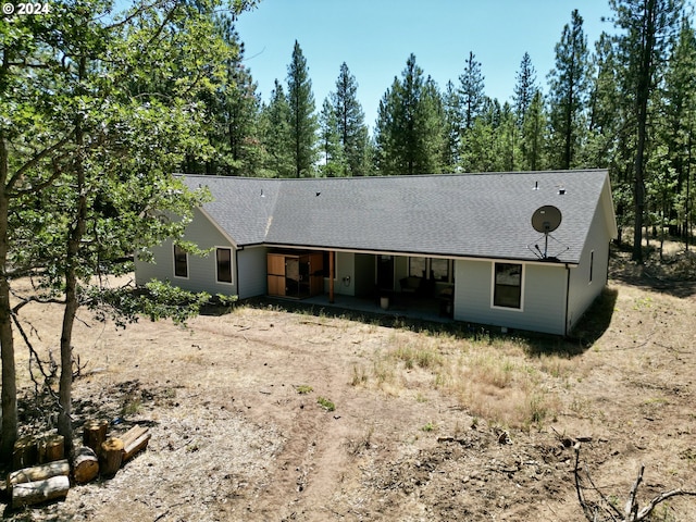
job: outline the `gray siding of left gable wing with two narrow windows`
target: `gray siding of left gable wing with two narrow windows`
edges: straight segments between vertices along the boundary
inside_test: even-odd
[[[152,252],[157,264],[136,261],[136,283],[141,285],[152,278],[169,281],[173,285],[191,291],[208,291],[210,294],[236,295],[236,256],[234,246],[229,240],[196,209],[194,221],[186,228],[184,239],[194,241],[199,248],[206,250],[214,247],[232,249],[232,273],[233,282],[219,283],[215,271],[215,251],[208,256],[188,256],[188,277],[174,276],[174,249],[171,240],[164,241],[161,246],[154,247]]]

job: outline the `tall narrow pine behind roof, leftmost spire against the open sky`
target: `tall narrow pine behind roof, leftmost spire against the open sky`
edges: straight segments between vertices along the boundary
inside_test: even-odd
[[[314,95],[307,60],[295,40],[293,59],[287,67],[287,99],[290,108],[289,129],[295,177],[311,177],[316,162],[316,115]]]

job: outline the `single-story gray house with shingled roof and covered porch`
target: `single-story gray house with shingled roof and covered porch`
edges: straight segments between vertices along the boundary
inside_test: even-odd
[[[617,236],[606,170],[183,179],[214,198],[185,235],[213,251],[164,243],[156,263],[136,262],[138,284],[243,299],[410,294],[458,321],[567,335],[605,287]]]

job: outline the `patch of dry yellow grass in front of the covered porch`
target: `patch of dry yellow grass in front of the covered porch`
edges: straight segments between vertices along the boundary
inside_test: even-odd
[[[549,391],[570,387],[579,371],[563,353],[530,356],[524,339],[409,334],[396,332],[370,365],[355,365],[350,384],[418,401],[438,390],[472,417],[529,430],[558,417],[562,405]]]

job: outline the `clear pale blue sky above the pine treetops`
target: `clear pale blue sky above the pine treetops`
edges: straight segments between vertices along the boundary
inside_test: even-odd
[[[608,0],[261,0],[239,17],[246,64],[269,100],[275,78],[286,85],[295,40],[312,80],[316,110],[335,90],[340,64],[356,77],[372,128],[380,99],[401,76],[412,52],[424,74],[444,89],[458,83],[470,51],[482,64],[485,92],[509,101],[524,52],[546,87],[555,46],[571,12],[584,18],[588,47],[613,32]]]

